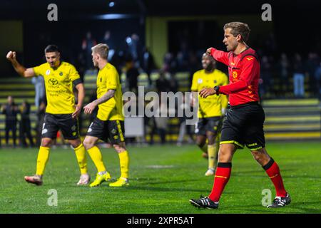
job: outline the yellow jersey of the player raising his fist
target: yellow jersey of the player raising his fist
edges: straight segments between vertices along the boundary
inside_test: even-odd
[[[43,76],[46,87],[46,113],[70,114],[75,111],[73,81],[80,80],[76,68],[70,63],[61,62],[58,68],[49,63],[34,67],[36,76]]]

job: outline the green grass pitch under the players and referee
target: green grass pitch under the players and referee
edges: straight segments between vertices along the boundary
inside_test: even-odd
[[[275,190],[249,150],[233,158],[230,182],[217,210],[197,209],[188,200],[208,195],[213,177],[205,177],[207,160],[195,145],[128,147],[131,156],[130,186],[78,187],[79,171],[71,149],[53,149],[44,185],[24,182],[34,174],[37,149],[0,150],[0,213],[321,213],[321,142],[270,142],[267,150],[280,166],[292,203],[280,209],[262,205],[262,191]],[[103,160],[113,178],[119,171],[118,155],[102,149]],[[96,169],[88,157],[92,180]],[[49,190],[57,191],[57,206],[47,203]]]

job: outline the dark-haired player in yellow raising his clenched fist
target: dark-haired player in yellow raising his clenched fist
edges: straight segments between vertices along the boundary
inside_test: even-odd
[[[86,185],[90,181],[87,172],[86,150],[81,143],[78,133],[78,115],[81,112],[85,90],[76,68],[70,63],[60,60],[60,51],[55,45],[45,48],[46,63],[33,68],[25,68],[16,61],[16,52],[9,51],[6,58],[19,75],[24,78],[34,76],[44,77],[46,87],[47,107],[41,135],[36,175],[26,176],[26,182],[42,185],[42,177],[46,163],[49,160],[49,151],[58,130],[74,148],[81,177],[77,185]],[[75,104],[73,86],[78,90],[78,103]]]

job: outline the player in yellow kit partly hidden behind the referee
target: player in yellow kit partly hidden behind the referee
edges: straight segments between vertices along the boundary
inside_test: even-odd
[[[228,85],[228,76],[216,69],[215,63],[213,57],[203,54],[203,69],[194,73],[190,90],[199,92],[203,88]],[[196,143],[203,152],[208,154],[208,171],[205,172],[205,176],[210,176],[215,174],[215,160],[218,154],[216,141],[219,140],[220,125],[228,106],[228,98],[226,95],[218,95],[211,96],[208,100],[198,95],[198,103],[198,123],[195,125]]]

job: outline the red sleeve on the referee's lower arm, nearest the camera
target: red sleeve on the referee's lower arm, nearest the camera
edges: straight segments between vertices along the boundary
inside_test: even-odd
[[[240,79],[228,86],[221,86],[219,92],[223,94],[230,94],[245,90],[253,81],[255,73],[258,72],[258,68],[259,65],[256,58],[243,58]]]

